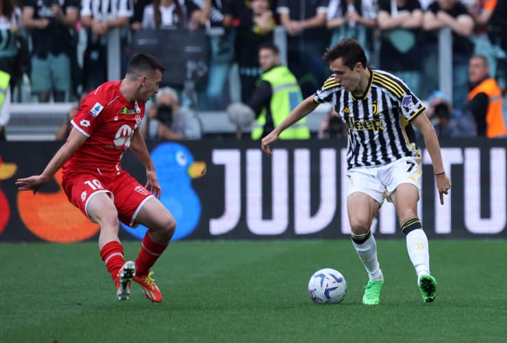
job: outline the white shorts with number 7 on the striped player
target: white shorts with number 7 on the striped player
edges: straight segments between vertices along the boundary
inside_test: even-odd
[[[379,204],[384,198],[391,201],[391,194],[401,183],[410,183],[421,191],[421,158],[404,157],[380,167],[358,167],[347,171],[349,192],[362,192]]]

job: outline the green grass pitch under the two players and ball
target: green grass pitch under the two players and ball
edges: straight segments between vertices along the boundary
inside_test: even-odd
[[[140,242],[125,243],[134,259]],[[430,240],[423,303],[404,240],[378,241],[381,305],[348,240],[188,241],[153,270],[164,300],[115,298],[95,243],[0,244],[0,342],[506,342],[506,240]],[[308,279],[343,273],[347,296],[317,305]]]

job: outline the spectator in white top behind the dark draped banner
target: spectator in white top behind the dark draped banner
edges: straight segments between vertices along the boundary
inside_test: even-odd
[[[143,12],[143,29],[184,27],[186,16],[178,0],[155,0]]]

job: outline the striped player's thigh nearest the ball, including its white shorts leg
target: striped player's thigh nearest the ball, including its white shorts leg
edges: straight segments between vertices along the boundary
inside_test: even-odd
[[[375,175],[375,168],[356,168],[347,171],[349,177],[347,211],[350,226],[356,234],[367,232],[373,216],[384,202],[384,188]]]

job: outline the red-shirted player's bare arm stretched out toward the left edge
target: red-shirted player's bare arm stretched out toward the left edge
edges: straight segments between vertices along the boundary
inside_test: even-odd
[[[69,138],[62,147],[56,152],[55,156],[47,164],[44,171],[40,175],[29,176],[28,178],[18,178],[16,186],[20,191],[34,191],[47,184],[53,178],[53,175],[71,158],[72,154],[80,147],[87,139],[84,134],[78,130],[71,130]]]

